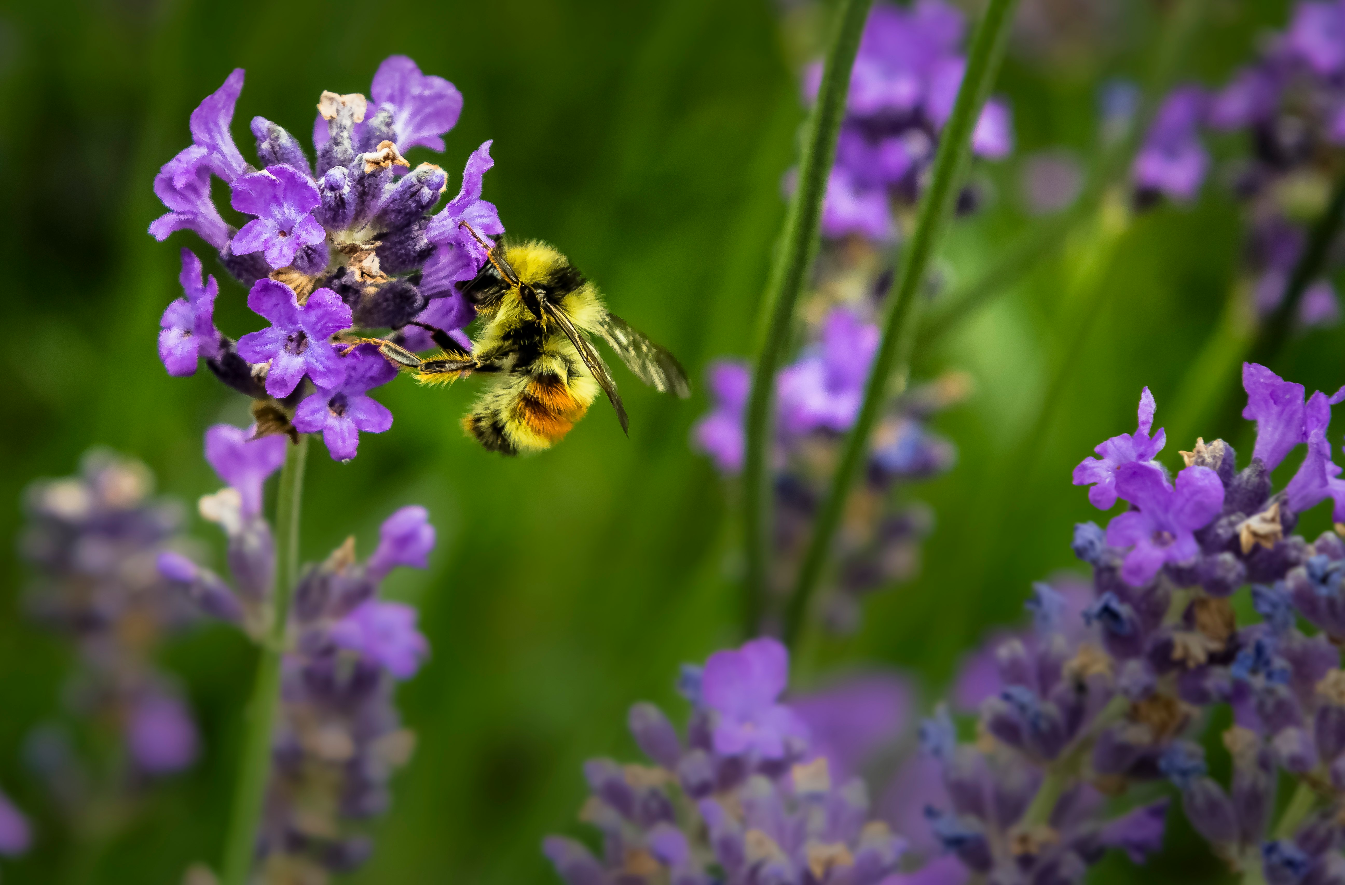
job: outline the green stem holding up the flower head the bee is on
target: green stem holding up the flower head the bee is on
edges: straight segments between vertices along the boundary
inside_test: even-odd
[[[299,514],[304,490],[304,461],[308,434],[285,447],[285,465],[280,469],[276,498],[276,585],[272,593],[270,623],[261,640],[257,682],[247,703],[243,736],[243,759],[234,788],[234,807],[229,816],[225,842],[223,878],[221,885],[245,885],[252,873],[257,845],[257,824],[266,798],[270,776],[270,741],[280,699],[280,663],[285,651],[285,627],[289,623],[289,599],[299,573]]]

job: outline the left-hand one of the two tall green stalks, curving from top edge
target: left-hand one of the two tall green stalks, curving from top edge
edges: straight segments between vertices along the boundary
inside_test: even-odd
[[[818,100],[804,128],[799,156],[799,179],[784,217],[784,233],[771,269],[765,296],[765,327],[752,373],[752,397],[746,412],[746,456],[744,464],[742,523],[746,535],[748,574],[745,588],[744,628],[756,635],[765,603],[767,564],[769,560],[769,445],[771,394],[775,373],[794,323],[794,308],[818,243],[818,223],[827,176],[835,161],[837,137],[850,93],[850,69],[859,51],[859,36],[873,0],[842,0],[835,34],[822,67]]]

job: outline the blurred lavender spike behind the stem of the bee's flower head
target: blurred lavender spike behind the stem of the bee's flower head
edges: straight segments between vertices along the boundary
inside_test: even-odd
[[[260,636],[270,620],[274,550],[261,515],[262,483],[285,457],[278,436],[217,425],[206,433],[206,459],[227,487],[200,502],[229,537],[233,586],[174,551],[157,572],[203,611]],[[393,694],[429,655],[410,605],[379,599],[397,566],[425,568],[434,527],[424,507],[404,507],[383,522],[379,543],[363,562],[348,538],[293,588],[282,659],[281,714],[272,780],[258,843],[266,881],[325,881],[369,857],[366,835],[350,822],[382,814],[387,783],[414,748]]]

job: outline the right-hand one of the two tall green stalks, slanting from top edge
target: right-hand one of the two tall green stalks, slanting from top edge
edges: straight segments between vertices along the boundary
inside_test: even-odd
[[[920,285],[924,281],[925,266],[939,242],[944,221],[948,217],[952,199],[956,194],[956,184],[962,178],[963,167],[971,149],[971,132],[976,118],[981,116],[981,106],[990,94],[990,86],[999,70],[1003,58],[1005,40],[1009,35],[1009,23],[1017,0],[990,0],[985,17],[976,27],[976,36],[971,44],[971,54],[967,58],[967,73],[958,90],[958,101],[952,108],[952,117],[948,118],[943,134],[939,139],[939,153],[933,161],[933,178],[929,190],[925,191],[920,204],[920,214],[916,219],[915,233],[902,249],[901,273],[892,296],[892,307],[888,311],[886,328],[882,343],[874,356],[873,369],[869,371],[869,381],[863,391],[863,403],[854,428],[846,437],[845,451],[841,463],[831,477],[831,491],[818,515],[816,526],[812,530],[812,541],[804,555],[803,565],[795,582],[794,593],[790,597],[784,619],[784,639],[788,644],[795,644],[803,623],[807,620],[812,593],[818,580],[822,577],[822,568],[831,549],[831,539],[841,522],[841,512],[845,508],[850,486],[858,473],[863,460],[863,452],[869,444],[869,433],[878,417],[878,409],[888,391],[888,381],[897,369],[897,382],[905,385],[907,364],[909,362],[911,339],[913,332],[913,311],[917,301]],[[760,378],[760,375],[759,375]]]

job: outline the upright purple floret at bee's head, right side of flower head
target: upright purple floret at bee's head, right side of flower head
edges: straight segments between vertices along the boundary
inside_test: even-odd
[[[467,325],[476,316],[476,311],[457,293],[453,284],[475,277],[486,264],[487,254],[461,227],[461,222],[469,223],[482,237],[498,237],[504,233],[495,204],[482,199],[482,183],[492,165],[495,160],[491,159],[491,143],[483,141],[482,147],[467,157],[463,186],[457,196],[449,200],[443,211],[430,217],[425,227],[425,239],[434,245],[434,254],[425,262],[420,289],[426,297],[449,292],[448,297],[459,303],[457,319],[451,320],[449,328]]]

